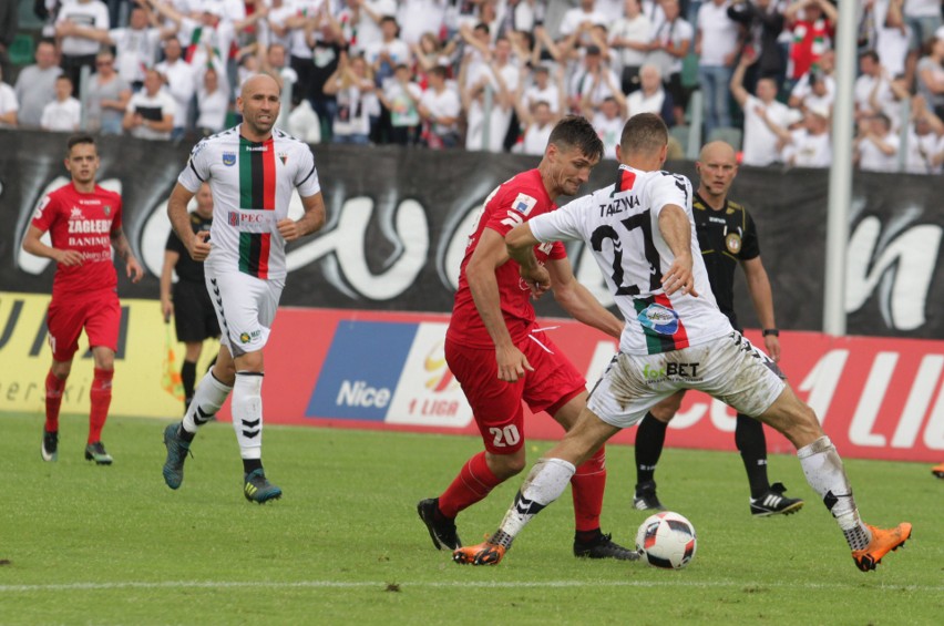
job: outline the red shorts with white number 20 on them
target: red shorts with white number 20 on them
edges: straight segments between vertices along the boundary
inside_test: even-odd
[[[511,454],[524,445],[524,408],[533,413],[556,411],[575,396],[586,391],[586,380],[542,331],[532,333],[547,350],[531,338],[517,345],[534,371],[517,382],[499,380],[495,350],[466,348],[445,341],[445,361],[462,384],[465,399],[482,433],[485,450]]]

